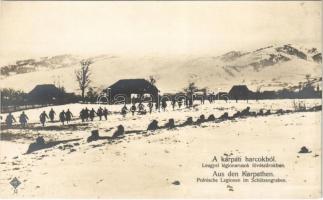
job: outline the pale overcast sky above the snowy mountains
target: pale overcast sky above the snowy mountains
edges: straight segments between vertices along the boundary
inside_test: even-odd
[[[321,2],[3,2],[0,59],[318,46]]]

